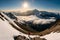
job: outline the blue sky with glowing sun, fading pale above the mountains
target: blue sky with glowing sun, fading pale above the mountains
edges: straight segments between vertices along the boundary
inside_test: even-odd
[[[60,12],[60,0],[0,0],[0,10],[13,9],[39,9]]]

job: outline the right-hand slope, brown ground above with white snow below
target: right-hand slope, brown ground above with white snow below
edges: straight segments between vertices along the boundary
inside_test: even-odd
[[[46,35],[42,36],[41,38],[45,38],[47,40],[60,40],[60,20],[57,20],[57,22],[48,30],[45,30]]]

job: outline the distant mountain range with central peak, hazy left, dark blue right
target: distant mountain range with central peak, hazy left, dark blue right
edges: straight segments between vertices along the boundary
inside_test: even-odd
[[[29,15],[36,15],[39,18],[50,18],[55,17],[56,19],[60,19],[60,13],[53,13],[53,12],[47,12],[47,11],[39,11],[37,9],[34,10],[28,10],[27,12],[11,12],[12,14],[16,16],[29,16]]]

